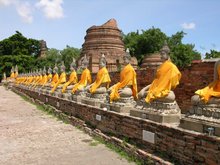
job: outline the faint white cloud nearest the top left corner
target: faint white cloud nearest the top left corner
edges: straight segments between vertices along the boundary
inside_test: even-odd
[[[33,16],[32,16],[33,9],[32,9],[31,5],[28,2],[18,3],[16,5],[16,10],[18,12],[18,15],[22,18],[23,22],[32,23],[32,21],[33,21]]]

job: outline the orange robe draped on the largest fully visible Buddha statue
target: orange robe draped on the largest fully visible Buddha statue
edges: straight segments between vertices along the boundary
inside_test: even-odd
[[[170,60],[157,69],[156,77],[150,85],[145,101],[150,103],[157,98],[166,97],[179,84],[181,73]]]

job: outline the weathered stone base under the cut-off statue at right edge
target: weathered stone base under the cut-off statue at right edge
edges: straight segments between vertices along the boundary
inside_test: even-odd
[[[180,127],[220,136],[220,105],[194,105],[181,119]]]

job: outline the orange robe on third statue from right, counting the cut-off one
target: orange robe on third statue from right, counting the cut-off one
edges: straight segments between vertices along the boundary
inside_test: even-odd
[[[124,69],[120,73],[120,82],[115,84],[112,87],[112,91],[110,94],[110,102],[113,100],[118,100],[120,95],[118,90],[124,88],[127,85],[132,86],[132,95],[136,99],[137,98],[137,80],[136,80],[136,72],[131,64],[128,64],[124,67]]]

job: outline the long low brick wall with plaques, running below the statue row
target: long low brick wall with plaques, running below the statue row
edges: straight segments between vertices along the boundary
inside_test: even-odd
[[[166,154],[168,159],[177,159],[181,164],[220,164],[220,139],[214,136],[161,125],[112,111],[103,111],[61,98],[39,95],[24,89],[17,88],[17,90],[52,105],[70,116],[84,120],[85,123],[93,128],[98,128],[103,133],[111,133],[121,139],[126,137],[131,143],[135,143],[148,152]],[[97,114],[101,116],[101,121],[96,120]],[[143,130],[155,134],[154,144],[142,139]]]

